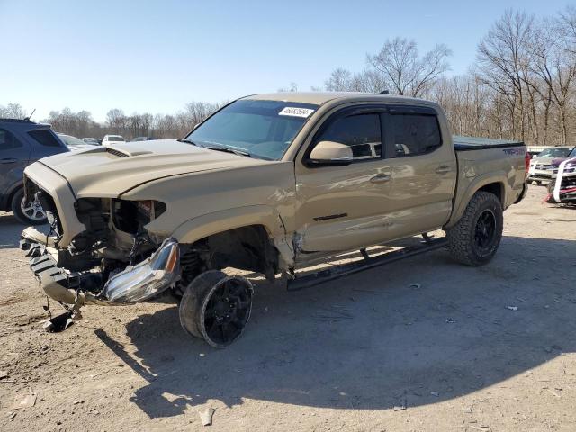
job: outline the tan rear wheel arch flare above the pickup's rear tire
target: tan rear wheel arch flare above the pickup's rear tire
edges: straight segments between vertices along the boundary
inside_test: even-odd
[[[448,220],[448,223],[446,223],[445,228],[452,227],[458,220],[460,220],[460,218],[462,218],[462,215],[466,210],[466,206],[468,205],[468,202],[472,200],[474,193],[476,193],[479,189],[482,188],[482,186],[485,186],[486,184],[500,184],[502,203],[504,208],[507,207],[506,200],[508,195],[508,187],[511,186],[509,185],[507,175],[504,171],[486,173],[479,175],[478,177],[473,177],[472,179],[465,175],[465,172],[466,171],[464,170],[464,175],[461,174],[458,178],[454,211],[452,212],[452,216],[450,216],[450,220]]]

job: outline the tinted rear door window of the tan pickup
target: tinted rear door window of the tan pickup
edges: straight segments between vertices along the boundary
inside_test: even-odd
[[[392,114],[390,119],[396,157],[424,155],[442,146],[435,115]]]

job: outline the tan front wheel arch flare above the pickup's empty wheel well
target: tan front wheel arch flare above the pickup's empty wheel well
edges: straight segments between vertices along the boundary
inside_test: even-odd
[[[293,264],[293,248],[286,237],[284,221],[278,211],[267,205],[249,205],[215,211],[186,220],[174,230],[172,237],[179,243],[190,244],[212,234],[250,225],[262,225],[278,249],[284,264]]]

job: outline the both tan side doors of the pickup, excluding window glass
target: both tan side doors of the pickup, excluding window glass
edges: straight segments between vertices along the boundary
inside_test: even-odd
[[[392,98],[390,103],[411,105],[413,101]],[[330,115],[355,106],[377,108],[386,104],[388,101],[374,98],[354,103],[332,101],[317,113],[319,118],[306,131],[306,139],[295,154],[296,225],[302,251],[329,254],[373,246],[439,229],[450,217],[456,161],[446,117],[434,103],[418,103],[437,111],[443,145],[432,153],[356,161],[348,166],[304,165],[305,149]],[[446,167],[446,173],[438,174],[439,166]],[[373,183],[378,175],[389,175],[390,181]],[[335,219],[318,220],[330,217]],[[304,262],[310,257],[301,254],[297,260]]]

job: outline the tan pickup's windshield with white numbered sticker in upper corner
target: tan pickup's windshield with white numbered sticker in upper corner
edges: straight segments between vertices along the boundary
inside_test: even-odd
[[[318,105],[240,100],[216,112],[186,137],[204,147],[225,147],[278,160]]]

